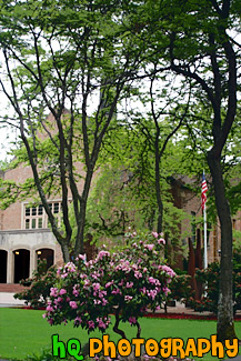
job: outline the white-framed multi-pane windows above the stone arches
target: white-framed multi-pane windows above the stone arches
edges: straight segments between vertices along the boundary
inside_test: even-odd
[[[53,215],[57,218],[58,225],[60,225],[61,202],[50,202],[49,208],[51,212],[53,212]],[[50,223],[42,204],[33,207],[26,204],[23,212],[23,228],[26,230],[50,228]]]

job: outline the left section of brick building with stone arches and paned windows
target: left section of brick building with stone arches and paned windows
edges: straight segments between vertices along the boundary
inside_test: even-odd
[[[30,167],[20,166],[1,172],[1,178],[21,183],[32,178],[32,171]],[[0,211],[0,283],[18,283],[31,277],[38,259],[46,259],[49,267],[62,263],[61,249],[48,227],[43,207],[30,202],[17,201]],[[50,199],[49,203],[60,221],[60,199]]]

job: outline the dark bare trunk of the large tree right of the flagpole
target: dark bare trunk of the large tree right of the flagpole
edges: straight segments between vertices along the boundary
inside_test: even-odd
[[[208,153],[208,163],[212,176],[214,197],[219,221],[221,225],[221,265],[219,284],[218,324],[219,341],[235,338],[233,324],[232,297],[232,222],[229,202],[225,197],[224,182],[221,169],[221,157],[214,151]]]

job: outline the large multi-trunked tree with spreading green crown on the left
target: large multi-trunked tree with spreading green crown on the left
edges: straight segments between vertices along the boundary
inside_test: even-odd
[[[0,84],[13,109],[2,123],[20,132],[23,159],[31,166],[33,185],[67,262],[72,234],[69,194],[77,255],[83,250],[87,200],[101,143],[141,52],[124,38],[119,2],[16,0],[2,2],[1,14]],[[56,189],[62,199],[63,233],[48,203]]]

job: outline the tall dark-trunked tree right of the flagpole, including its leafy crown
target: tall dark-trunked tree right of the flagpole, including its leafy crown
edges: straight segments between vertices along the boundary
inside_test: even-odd
[[[211,106],[212,147],[208,164],[221,224],[221,274],[218,312],[219,340],[235,337],[232,314],[232,224],[223,182],[221,156],[237,116],[240,44],[238,1],[203,0],[145,2],[153,44],[160,61],[197,87],[197,99]],[[158,9],[158,11],[157,11]],[[159,46],[158,46],[159,42]],[[163,43],[167,47],[163,51]]]

